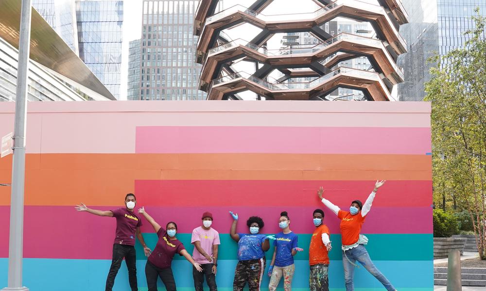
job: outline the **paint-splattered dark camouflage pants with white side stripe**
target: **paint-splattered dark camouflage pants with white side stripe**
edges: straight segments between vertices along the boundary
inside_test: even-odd
[[[238,261],[233,280],[233,291],[243,291],[248,283],[250,291],[260,291],[261,279],[265,271],[266,259],[250,259]]]

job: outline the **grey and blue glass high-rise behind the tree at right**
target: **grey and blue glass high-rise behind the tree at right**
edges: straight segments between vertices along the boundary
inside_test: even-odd
[[[486,0],[403,0],[409,23],[400,27],[407,40],[408,53],[399,57],[405,82],[399,84],[399,99],[421,101],[425,97],[424,83],[430,81],[428,61],[436,54],[445,55],[462,48],[467,40],[464,32],[473,28],[474,9],[486,15]]]

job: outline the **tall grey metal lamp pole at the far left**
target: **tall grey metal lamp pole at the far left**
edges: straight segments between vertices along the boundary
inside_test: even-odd
[[[22,250],[25,184],[25,127],[27,120],[27,83],[31,31],[31,0],[22,0],[18,42],[17,92],[15,99],[14,155],[8,245],[8,287],[4,291],[28,291],[22,287]]]

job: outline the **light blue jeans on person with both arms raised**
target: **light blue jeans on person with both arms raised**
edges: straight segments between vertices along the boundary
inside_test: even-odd
[[[369,258],[368,252],[366,251],[366,248],[364,247],[363,244],[358,245],[355,248],[349,249],[346,251],[346,256],[347,258],[353,262],[356,263],[358,261],[360,264],[363,265],[363,267],[368,270],[368,272],[375,276],[375,278],[380,281],[383,286],[386,288],[388,291],[395,291],[395,287],[388,281],[388,279],[385,278],[385,276],[380,272],[371,259]],[[354,275],[354,266],[349,263],[349,261],[346,259],[344,251],[343,251],[343,266],[344,266],[344,281],[346,283],[346,291],[353,291],[354,290],[354,284],[353,284],[353,275]]]

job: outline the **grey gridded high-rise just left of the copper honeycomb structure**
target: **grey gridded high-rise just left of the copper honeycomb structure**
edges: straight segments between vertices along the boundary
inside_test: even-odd
[[[139,94],[129,89],[129,98],[206,99],[197,89],[201,65],[195,63],[197,37],[192,34],[197,5],[196,0],[143,1]],[[129,69],[129,80],[138,78],[133,73]]]

